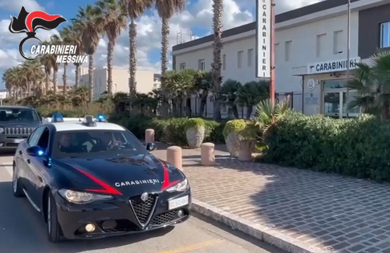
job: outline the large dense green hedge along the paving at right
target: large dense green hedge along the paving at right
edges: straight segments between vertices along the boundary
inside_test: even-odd
[[[390,181],[390,124],[291,112],[266,140],[265,162]]]

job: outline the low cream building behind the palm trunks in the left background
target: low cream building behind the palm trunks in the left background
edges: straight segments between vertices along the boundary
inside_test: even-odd
[[[112,92],[129,92],[129,70],[113,68],[112,69]],[[80,84],[88,84],[88,68],[80,68]],[[107,91],[107,68],[99,68],[94,70],[94,97],[99,98],[100,95]],[[148,93],[154,87],[154,72],[146,70],[137,70],[135,73],[135,80],[137,82],[137,92]]]

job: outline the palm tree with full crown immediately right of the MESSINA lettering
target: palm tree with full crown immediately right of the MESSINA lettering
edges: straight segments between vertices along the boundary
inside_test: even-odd
[[[103,19],[99,14],[100,11],[97,7],[87,4],[85,9],[79,8],[76,19],[73,19],[73,22],[77,23],[77,26],[82,31],[83,50],[89,56],[89,101],[92,101],[94,98],[94,53],[99,43],[99,34],[103,31]]]

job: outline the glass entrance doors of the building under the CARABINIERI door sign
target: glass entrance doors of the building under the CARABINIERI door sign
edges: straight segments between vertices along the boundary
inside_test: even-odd
[[[323,81],[324,88],[324,114],[332,117],[347,116],[347,80],[326,80]],[[349,90],[349,102],[358,96],[356,91]],[[342,105],[342,106],[340,106]],[[350,108],[348,116],[355,117],[360,113],[360,108]]]

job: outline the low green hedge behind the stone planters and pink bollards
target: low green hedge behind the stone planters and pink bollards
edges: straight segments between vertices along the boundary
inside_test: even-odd
[[[198,119],[197,119],[198,120]],[[120,124],[131,131],[137,138],[145,138],[145,130],[148,128],[154,129],[155,140],[163,141],[172,145],[186,146],[186,127],[192,124],[193,119],[188,118],[172,118],[172,119],[153,119],[142,115],[133,117],[123,117],[121,115],[112,115],[108,121],[115,124]],[[205,142],[213,142],[215,144],[225,143],[222,131],[225,127],[225,122],[216,122],[213,120],[204,120],[206,127]]]

